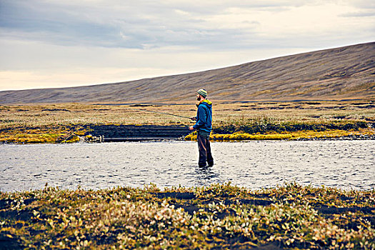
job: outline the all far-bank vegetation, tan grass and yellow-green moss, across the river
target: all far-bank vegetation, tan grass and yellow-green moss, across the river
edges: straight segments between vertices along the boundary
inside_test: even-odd
[[[375,134],[375,102],[214,104],[212,139],[303,139]],[[90,125],[186,125],[194,104],[0,106],[0,142],[78,141]],[[229,135],[230,134],[230,135]],[[194,135],[188,137],[194,139]]]

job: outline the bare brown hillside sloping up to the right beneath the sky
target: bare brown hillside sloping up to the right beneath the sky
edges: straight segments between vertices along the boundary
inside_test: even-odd
[[[0,91],[0,104],[375,99],[375,42],[116,84]]]

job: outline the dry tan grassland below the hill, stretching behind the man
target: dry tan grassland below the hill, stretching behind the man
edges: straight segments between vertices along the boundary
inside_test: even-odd
[[[214,103],[214,128],[249,124],[329,124],[375,121],[374,101],[291,102],[291,103]],[[1,141],[54,142],[84,124],[187,125],[196,106],[186,104],[94,105],[23,104],[0,106]],[[34,136],[30,136],[34,134]],[[13,138],[13,139],[12,139]],[[29,139],[31,138],[31,139]]]

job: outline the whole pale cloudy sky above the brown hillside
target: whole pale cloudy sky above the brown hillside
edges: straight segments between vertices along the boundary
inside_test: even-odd
[[[185,74],[370,41],[369,0],[0,0],[0,91]]]

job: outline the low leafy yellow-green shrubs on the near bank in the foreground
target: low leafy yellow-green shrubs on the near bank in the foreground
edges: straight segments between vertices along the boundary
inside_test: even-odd
[[[375,191],[119,187],[0,192],[9,249],[374,249]]]

